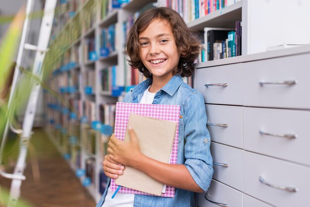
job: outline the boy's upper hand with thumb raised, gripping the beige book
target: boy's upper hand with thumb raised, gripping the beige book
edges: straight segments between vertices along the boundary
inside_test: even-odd
[[[107,148],[111,160],[125,166],[131,166],[141,155],[139,143],[134,130],[131,127],[128,127],[128,132],[130,142],[120,141],[112,135]]]

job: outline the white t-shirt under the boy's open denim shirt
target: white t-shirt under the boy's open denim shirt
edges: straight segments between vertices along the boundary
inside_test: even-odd
[[[150,86],[149,86],[150,88]],[[152,104],[156,93],[149,92],[147,88],[141,98],[140,104]],[[107,189],[103,205],[101,207],[133,207],[135,194],[131,193],[117,193],[112,199],[114,192],[110,191],[110,187]]]

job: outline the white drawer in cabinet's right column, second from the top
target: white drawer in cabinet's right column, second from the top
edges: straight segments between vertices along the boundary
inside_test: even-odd
[[[243,107],[243,115],[245,150],[310,165],[310,111]]]

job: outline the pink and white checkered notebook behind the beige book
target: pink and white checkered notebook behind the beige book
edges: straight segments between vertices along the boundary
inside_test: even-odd
[[[129,114],[134,113],[138,115],[157,118],[160,120],[173,121],[177,123],[174,142],[172,145],[172,151],[170,156],[170,164],[176,164],[178,153],[178,136],[179,136],[179,118],[180,118],[180,105],[166,105],[166,104],[133,104],[133,103],[116,103],[115,111],[115,126],[114,135],[119,140],[124,140],[129,120]],[[115,191],[118,185],[115,184],[115,179],[111,179],[110,189]],[[126,187],[120,187],[118,192],[152,195],[141,191],[133,190]],[[174,197],[175,188],[166,186],[165,193],[162,193],[162,197]]]

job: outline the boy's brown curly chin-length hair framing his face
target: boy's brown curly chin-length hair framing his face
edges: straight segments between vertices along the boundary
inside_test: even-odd
[[[180,52],[180,60],[174,75],[180,73],[182,77],[192,75],[194,61],[202,49],[197,36],[198,32],[187,27],[183,18],[173,9],[168,7],[155,7],[148,9],[139,16],[130,29],[125,51],[129,55],[129,65],[138,68],[147,78],[152,78],[152,74],[143,64],[140,53],[139,34],[143,32],[153,20],[160,19],[167,21],[172,28],[175,44]]]

